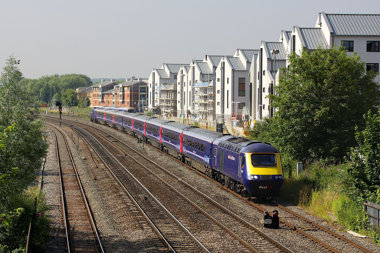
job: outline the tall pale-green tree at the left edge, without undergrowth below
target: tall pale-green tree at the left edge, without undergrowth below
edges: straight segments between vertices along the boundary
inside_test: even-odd
[[[30,107],[28,93],[17,86],[22,74],[14,66],[14,60],[13,56],[7,60],[0,77],[0,131],[11,125],[16,129],[7,133],[3,140],[5,148],[0,150],[0,176],[11,174],[14,179],[2,185],[0,211],[13,208],[12,198],[35,179],[35,171],[41,167],[47,150],[42,138],[43,121],[37,118],[38,108]]]

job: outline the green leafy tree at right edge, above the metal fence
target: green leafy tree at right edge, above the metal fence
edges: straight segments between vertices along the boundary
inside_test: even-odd
[[[366,128],[360,131],[356,127],[358,146],[348,153],[351,162],[348,173],[361,196],[380,203],[380,115],[369,111],[364,119]]]

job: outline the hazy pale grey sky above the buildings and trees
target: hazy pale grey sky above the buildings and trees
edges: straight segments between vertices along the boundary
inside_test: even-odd
[[[27,78],[149,77],[162,63],[258,49],[321,11],[378,14],[380,1],[1,0],[0,66],[14,53]]]

